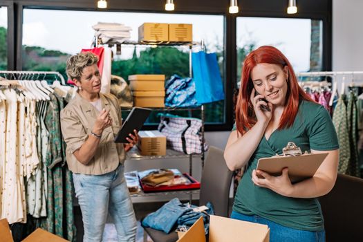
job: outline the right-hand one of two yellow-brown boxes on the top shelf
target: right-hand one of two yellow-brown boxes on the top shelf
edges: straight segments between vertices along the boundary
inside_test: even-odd
[[[192,42],[192,24],[169,24],[169,41]]]

